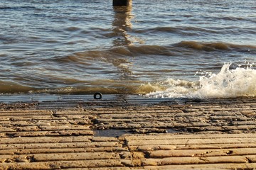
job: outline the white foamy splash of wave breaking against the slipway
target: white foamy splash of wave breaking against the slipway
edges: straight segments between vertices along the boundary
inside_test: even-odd
[[[246,68],[230,69],[224,64],[218,74],[203,74],[198,81],[168,79],[164,91],[146,94],[153,98],[233,98],[238,96],[256,96],[256,70]]]

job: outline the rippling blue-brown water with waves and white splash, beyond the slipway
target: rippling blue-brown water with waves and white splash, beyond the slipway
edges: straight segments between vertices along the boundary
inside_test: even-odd
[[[1,94],[256,95],[255,0],[1,0]]]

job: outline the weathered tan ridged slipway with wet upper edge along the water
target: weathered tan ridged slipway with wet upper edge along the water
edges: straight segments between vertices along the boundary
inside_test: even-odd
[[[256,169],[256,98],[1,96],[0,169]]]

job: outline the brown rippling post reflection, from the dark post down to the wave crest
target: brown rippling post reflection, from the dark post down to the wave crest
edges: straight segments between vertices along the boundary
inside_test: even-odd
[[[132,37],[128,31],[132,30],[132,6],[114,6],[114,20],[112,22],[114,35],[114,46],[132,45]]]

